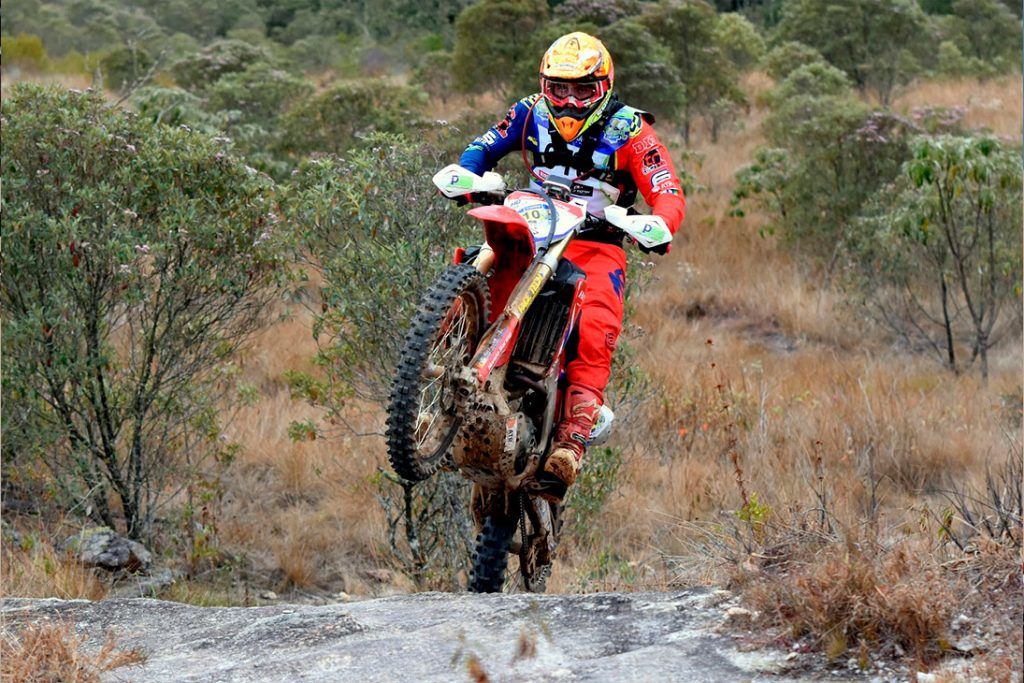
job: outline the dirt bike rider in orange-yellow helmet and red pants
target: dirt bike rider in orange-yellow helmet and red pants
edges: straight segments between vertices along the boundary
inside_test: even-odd
[[[572,195],[603,217],[611,204],[630,207],[637,189],[673,233],[686,202],[653,117],[627,106],[612,91],[611,55],[585,33],[562,36],[541,60],[541,92],[512,105],[505,119],[466,147],[459,165],[482,174],[505,155],[531,155],[534,184],[549,174],[572,180]],[[623,232],[582,232],[565,257],[587,273],[579,345],[566,369],[568,387],[545,475],[565,487],[575,481],[591,430],[604,401],[611,355],[623,327],[626,253]],[[666,253],[667,246],[655,248]]]

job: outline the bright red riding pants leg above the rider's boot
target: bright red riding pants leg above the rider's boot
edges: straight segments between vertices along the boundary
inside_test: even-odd
[[[565,258],[587,273],[580,343],[565,375],[569,385],[590,389],[603,402],[604,387],[611,376],[611,353],[623,331],[626,252],[615,245],[577,240],[566,248]]]

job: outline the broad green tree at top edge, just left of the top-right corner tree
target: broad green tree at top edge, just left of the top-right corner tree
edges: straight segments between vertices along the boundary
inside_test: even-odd
[[[915,0],[791,0],[778,34],[817,49],[888,104],[893,89],[921,71],[927,28]]]

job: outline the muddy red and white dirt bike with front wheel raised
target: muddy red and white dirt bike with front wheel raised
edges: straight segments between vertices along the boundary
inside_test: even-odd
[[[543,592],[562,512],[552,501],[565,493],[543,464],[586,293],[586,274],[562,254],[591,229],[622,230],[644,247],[672,233],[660,218],[623,207],[589,215],[571,181],[557,176],[508,193],[496,173],[452,165],[433,182],[450,199],[483,205],[469,215],[483,223],[485,242],[456,250],[420,300],[390,395],[388,457],[411,481],[442,467],[473,481],[470,591],[501,591],[511,554],[522,587]],[[591,444],[607,438],[613,419],[603,407]]]

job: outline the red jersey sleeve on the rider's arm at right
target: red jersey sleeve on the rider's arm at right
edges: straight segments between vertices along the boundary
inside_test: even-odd
[[[650,124],[644,121],[620,155],[620,168],[629,171],[651,213],[660,216],[675,234],[686,216],[686,198],[669,151]]]

